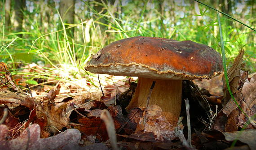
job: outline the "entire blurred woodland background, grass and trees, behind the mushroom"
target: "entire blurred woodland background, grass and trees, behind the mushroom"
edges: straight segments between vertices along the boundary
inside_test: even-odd
[[[255,0],[202,2],[256,28]],[[221,52],[217,12],[194,0],[1,0],[0,6],[0,61],[14,71],[35,62],[77,73],[100,48],[133,36],[192,40]],[[243,69],[256,72],[256,32],[224,15],[221,25],[227,65],[244,49]]]

